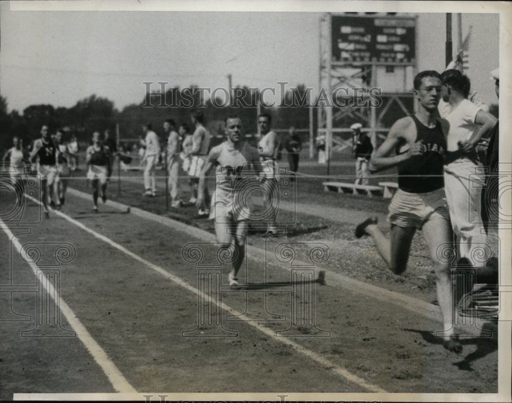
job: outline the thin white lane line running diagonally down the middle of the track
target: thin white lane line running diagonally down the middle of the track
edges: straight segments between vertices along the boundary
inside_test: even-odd
[[[39,203],[38,200],[36,200],[35,198],[30,197],[30,196],[27,196],[27,197],[29,197],[30,199],[34,200],[34,202]],[[64,214],[64,213],[62,213],[60,211],[57,211],[57,210],[55,210],[54,213],[59,215],[59,216],[61,216],[62,218],[65,218],[70,223],[72,223],[72,224],[76,225],[77,227],[81,228],[82,230],[90,233],[94,237],[104,241],[105,243],[109,244],[113,248],[116,248],[119,251],[123,252],[124,254],[134,258],[135,260],[140,261],[140,263],[142,263],[145,266],[155,270],[157,273],[160,273],[161,275],[163,275],[164,277],[168,278],[169,280],[174,281],[174,283],[176,283],[179,286],[185,288],[186,290],[196,294],[197,296],[199,296],[199,297],[201,297],[203,299],[210,300],[213,303],[215,303],[215,305],[217,305],[219,308],[223,309],[224,311],[229,312],[230,314],[233,314],[233,315],[235,315],[237,317],[240,317],[241,319],[245,320],[248,325],[258,329],[262,333],[266,334],[269,337],[272,337],[273,339],[281,342],[282,344],[284,344],[286,346],[290,346],[291,348],[293,348],[298,353],[301,353],[301,354],[307,356],[308,358],[316,361],[318,364],[322,365],[326,370],[332,371],[336,375],[338,375],[338,376],[340,376],[342,378],[345,378],[345,379],[353,382],[354,384],[359,385],[360,387],[367,389],[370,392],[387,393],[386,390],[380,388],[379,386],[373,385],[373,384],[367,382],[365,379],[362,379],[362,378],[358,377],[357,375],[352,374],[347,369],[334,364],[333,362],[329,361],[328,359],[322,357],[321,355],[319,355],[319,354],[317,354],[317,353],[315,353],[315,352],[313,352],[311,350],[308,350],[307,348],[301,346],[300,344],[297,344],[296,342],[294,342],[292,340],[288,340],[288,339],[284,339],[283,337],[276,336],[275,332],[273,330],[265,327],[264,325],[252,322],[251,318],[249,318],[248,316],[246,316],[243,313],[241,313],[241,312],[231,308],[230,306],[228,306],[228,305],[226,305],[224,303],[212,300],[210,296],[202,293],[197,288],[189,285],[188,283],[185,283],[185,281],[183,281],[181,278],[179,278],[179,277],[177,277],[177,276],[175,276],[173,274],[168,273],[167,271],[162,269],[160,266],[155,265],[155,264],[151,263],[151,261],[148,261],[148,260],[144,259],[143,257],[140,257],[139,255],[129,251],[128,249],[126,249],[123,246],[119,245],[118,243],[116,243],[112,239],[110,239],[110,238],[108,238],[108,237],[106,237],[104,235],[101,235],[100,233],[90,229],[89,227],[86,227],[85,225],[83,225],[82,223],[79,223],[77,220],[75,220],[74,218],[71,218],[67,214]]]

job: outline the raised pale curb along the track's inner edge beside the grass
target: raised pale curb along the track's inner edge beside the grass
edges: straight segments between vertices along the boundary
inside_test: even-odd
[[[68,188],[67,191],[68,193],[71,193],[75,196],[84,199],[91,198],[91,195],[83,193],[76,189]],[[122,203],[111,202],[110,200],[108,200],[106,204],[123,211],[126,211],[127,207],[129,207]],[[165,225],[166,227],[172,228],[173,230],[185,232],[188,235],[194,236],[206,242],[215,241],[214,234],[211,234],[208,231],[202,230],[200,228],[181,223],[180,221],[176,221],[172,218],[154,214],[149,211],[139,209],[137,207],[132,207],[131,213],[141,218],[152,220],[155,221],[156,223]],[[247,256],[250,259],[266,258],[265,251],[263,249],[251,245],[247,245]],[[306,265],[306,263],[300,260],[295,260],[295,263],[297,265]],[[438,323],[442,324],[441,310],[437,305],[430,304],[421,299],[401,294],[396,291],[386,290],[385,288],[377,287],[372,284],[365,283],[364,281],[356,280],[343,274],[333,272],[326,267],[322,267],[321,265],[317,265],[316,267],[318,270],[324,270],[326,272],[328,284],[332,286],[345,288],[357,292],[359,294],[380,300],[384,303],[396,305],[401,309],[407,309],[408,311],[417,313],[425,318],[437,321]],[[464,321],[457,320],[457,323],[461,322],[464,323]],[[459,330],[463,330],[466,333],[470,333],[474,336],[480,336],[484,322],[484,320],[479,320],[477,321],[477,325],[479,326],[457,325],[456,328]]]

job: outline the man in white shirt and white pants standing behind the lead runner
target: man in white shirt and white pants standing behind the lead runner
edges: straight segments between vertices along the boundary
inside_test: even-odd
[[[490,257],[480,215],[485,175],[479,168],[476,146],[496,125],[496,118],[467,99],[471,82],[459,70],[441,74],[441,96],[449,104],[441,115],[446,134],[444,189],[452,228],[459,237],[459,253],[474,268],[485,267]]]

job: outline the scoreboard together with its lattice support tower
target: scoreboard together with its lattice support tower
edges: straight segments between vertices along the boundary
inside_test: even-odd
[[[333,133],[347,140],[351,124],[359,122],[377,147],[392,123],[415,109],[417,17],[367,14],[326,13],[319,22],[319,91],[325,90],[331,101],[337,93],[341,100],[338,105],[317,102],[317,133],[325,135],[328,175]],[[377,107],[368,106],[371,88],[381,89],[382,103]],[[356,91],[361,95],[361,89],[364,106],[357,104],[361,98],[357,100]]]

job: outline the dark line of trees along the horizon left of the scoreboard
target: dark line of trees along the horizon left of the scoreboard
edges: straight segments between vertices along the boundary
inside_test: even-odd
[[[50,104],[30,105],[20,114],[16,110],[8,112],[8,100],[0,96],[0,149],[11,146],[10,139],[13,135],[27,142],[39,137],[42,125],[48,125],[50,132],[63,129],[66,136],[72,134],[79,142],[89,142],[95,131],[103,132],[110,130],[115,133],[116,124],[119,124],[121,139],[136,139],[141,134],[141,125],[147,122],[153,123],[153,128],[159,133],[160,127],[165,119],[174,119],[177,124],[187,123],[190,125],[190,112],[202,106],[205,115],[205,122],[210,133],[223,135],[223,121],[230,114],[238,114],[244,122],[244,132],[253,134],[257,132],[257,108],[255,107],[233,107],[231,105],[219,107],[212,105],[210,99],[201,100],[200,94],[194,91],[196,86],[188,87],[192,94],[193,102],[187,107],[166,107],[161,105],[161,96],[146,95],[139,104],[125,106],[122,110],[114,107],[114,102],[105,97],[90,95],[79,100],[71,108],[55,107]],[[242,99],[248,103],[251,91],[248,87],[237,87],[234,89],[239,94],[245,94]],[[298,86],[293,89],[295,95],[304,96],[305,86]],[[171,88],[165,94],[166,97],[180,96],[183,89]],[[284,95],[284,103],[290,104],[293,96],[292,91]],[[149,102],[148,102],[149,101]],[[174,99],[179,105],[179,99]],[[272,116],[272,127],[287,129],[290,126],[295,128],[309,127],[309,110],[306,105],[298,107],[273,107],[262,108],[262,112],[269,112]]]

